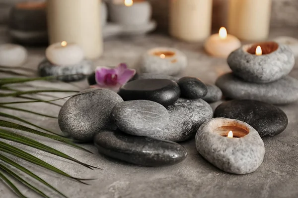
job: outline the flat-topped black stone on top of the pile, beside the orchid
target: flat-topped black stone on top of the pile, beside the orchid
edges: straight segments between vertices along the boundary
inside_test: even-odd
[[[167,79],[141,79],[127,83],[118,94],[125,100],[151,100],[168,106],[180,97],[176,82]]]

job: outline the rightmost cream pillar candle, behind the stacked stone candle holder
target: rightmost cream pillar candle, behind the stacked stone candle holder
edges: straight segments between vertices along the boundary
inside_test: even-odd
[[[228,13],[230,34],[247,41],[267,39],[271,0],[229,0]]]

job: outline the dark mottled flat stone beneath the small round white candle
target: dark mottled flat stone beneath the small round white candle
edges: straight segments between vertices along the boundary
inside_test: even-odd
[[[58,80],[70,82],[82,80],[92,73],[92,62],[82,60],[75,65],[53,65],[47,59],[39,63],[37,71],[40,76],[58,76]]]

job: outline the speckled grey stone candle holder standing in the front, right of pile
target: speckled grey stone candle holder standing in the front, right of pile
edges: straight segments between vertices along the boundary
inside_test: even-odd
[[[222,136],[219,127],[241,126],[248,132],[240,138]],[[228,129],[229,130],[229,129]],[[254,172],[263,162],[265,148],[258,132],[245,122],[213,118],[203,124],[196,134],[197,151],[214,166],[225,172],[247,174]]]

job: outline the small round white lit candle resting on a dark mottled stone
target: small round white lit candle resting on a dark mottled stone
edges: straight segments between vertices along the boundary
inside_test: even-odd
[[[54,65],[74,65],[83,60],[84,53],[78,45],[64,41],[50,45],[46,57]]]

